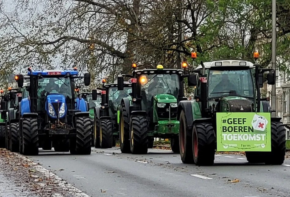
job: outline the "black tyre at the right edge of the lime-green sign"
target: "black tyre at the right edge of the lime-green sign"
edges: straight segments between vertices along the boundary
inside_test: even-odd
[[[265,152],[267,165],[281,165],[284,163],[286,152],[285,128],[280,121],[271,122],[271,152]]]

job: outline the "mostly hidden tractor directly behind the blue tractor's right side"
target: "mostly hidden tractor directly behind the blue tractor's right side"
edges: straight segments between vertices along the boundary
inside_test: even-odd
[[[88,109],[90,112],[91,127],[92,127],[92,142],[91,146],[94,146],[94,109],[97,106],[101,106],[101,92],[97,93],[99,95],[96,100],[92,98],[92,92],[82,92],[79,94],[80,98],[83,98],[88,103]]]

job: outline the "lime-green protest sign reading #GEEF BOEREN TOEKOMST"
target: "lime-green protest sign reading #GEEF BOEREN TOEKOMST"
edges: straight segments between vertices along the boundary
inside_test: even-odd
[[[270,113],[217,113],[217,151],[271,151]]]

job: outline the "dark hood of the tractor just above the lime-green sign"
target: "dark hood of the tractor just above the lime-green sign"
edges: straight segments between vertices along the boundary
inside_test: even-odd
[[[220,100],[220,112],[252,112],[251,101],[240,96],[226,96]]]

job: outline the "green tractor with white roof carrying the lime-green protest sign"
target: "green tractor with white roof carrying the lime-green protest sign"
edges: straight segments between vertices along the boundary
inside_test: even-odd
[[[260,98],[263,74],[275,84],[272,69],[248,61],[205,62],[188,75],[196,86],[193,101],[178,105],[183,163],[213,165],[215,151],[245,151],[248,162],[281,165],[285,129],[270,117],[269,101]]]

